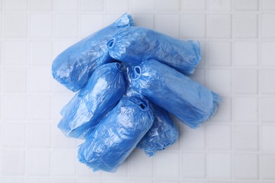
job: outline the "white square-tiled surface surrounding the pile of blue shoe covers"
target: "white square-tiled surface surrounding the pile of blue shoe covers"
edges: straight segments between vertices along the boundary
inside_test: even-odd
[[[56,128],[73,96],[51,61],[124,12],[136,25],[199,39],[193,79],[224,98],[197,130],[153,158],[135,150],[116,173],[78,163],[81,141]],[[1,183],[274,183],[274,0],[1,0]]]

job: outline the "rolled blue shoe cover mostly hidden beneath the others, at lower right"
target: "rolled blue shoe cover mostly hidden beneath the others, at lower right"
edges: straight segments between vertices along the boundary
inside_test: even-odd
[[[157,151],[164,150],[178,139],[178,128],[169,113],[157,105],[152,104],[151,108],[154,113],[153,125],[137,146],[147,156],[154,156]]]

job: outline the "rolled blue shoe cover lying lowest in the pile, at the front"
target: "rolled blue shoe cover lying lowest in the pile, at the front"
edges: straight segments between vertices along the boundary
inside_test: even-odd
[[[152,126],[154,116],[144,99],[124,96],[78,149],[80,163],[92,170],[115,172]]]

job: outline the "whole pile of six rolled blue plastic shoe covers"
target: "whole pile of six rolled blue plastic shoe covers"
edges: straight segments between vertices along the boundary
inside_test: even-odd
[[[60,53],[52,75],[76,93],[58,127],[85,139],[80,162],[115,172],[136,147],[154,156],[178,139],[170,114],[191,128],[211,118],[220,96],[188,77],[200,58],[199,42],[135,27],[127,13]]]

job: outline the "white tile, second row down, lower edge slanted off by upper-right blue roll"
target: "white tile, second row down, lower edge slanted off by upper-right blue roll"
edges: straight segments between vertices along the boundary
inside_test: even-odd
[[[156,30],[171,37],[180,37],[180,15],[158,14]],[[171,29],[173,27],[173,29]]]

